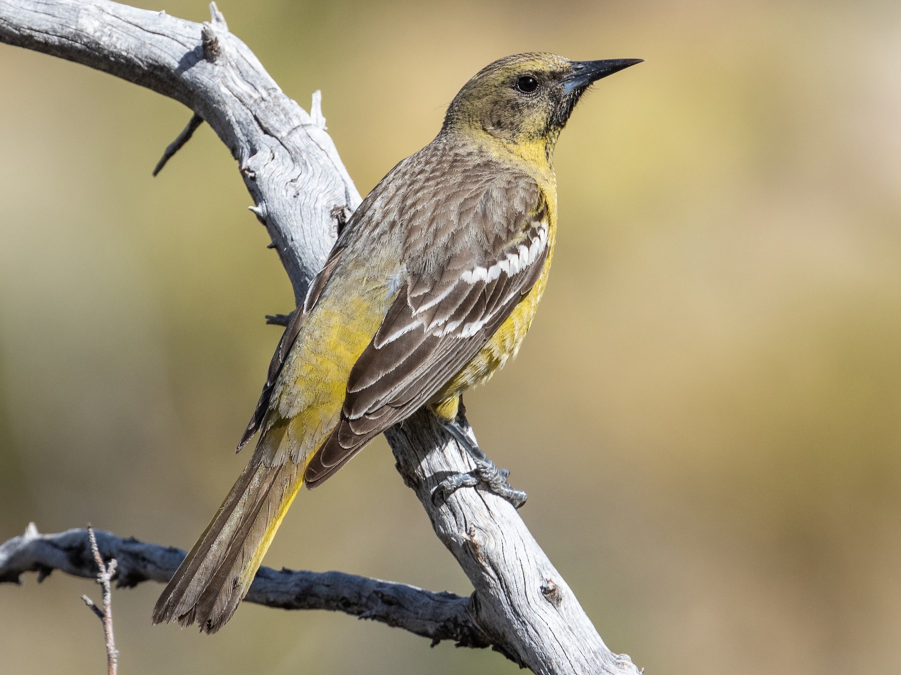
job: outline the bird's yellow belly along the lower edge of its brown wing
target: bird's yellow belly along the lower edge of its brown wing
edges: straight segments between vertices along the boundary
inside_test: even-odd
[[[460,373],[454,375],[445,384],[432,400],[432,410],[443,419],[452,419],[457,414],[457,399],[461,393],[469,387],[486,383],[493,374],[502,368],[505,363],[516,356],[519,347],[523,344],[526,332],[532,326],[535,311],[538,310],[538,302],[542,299],[544,287],[548,283],[548,273],[551,271],[551,258],[554,254],[554,241],[557,229],[551,224],[548,232],[548,257],[544,261],[542,275],[532,286],[523,300],[514,307],[504,323],[498,327],[495,334],[485,343],[485,347],[476,356],[464,365]]]

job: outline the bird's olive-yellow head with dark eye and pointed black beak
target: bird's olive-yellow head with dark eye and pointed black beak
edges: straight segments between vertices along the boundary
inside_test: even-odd
[[[587,88],[642,60],[570,61],[546,53],[499,58],[463,85],[448,107],[442,131],[487,134],[523,149],[541,146],[550,159],[560,130]]]

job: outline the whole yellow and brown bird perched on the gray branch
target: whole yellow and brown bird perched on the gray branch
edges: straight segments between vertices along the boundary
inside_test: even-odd
[[[154,624],[215,633],[232,617],[301,486],[431,410],[476,463],[435,495],[481,484],[525,500],[461,423],[461,396],[514,357],[557,233],[552,154],[582,94],[641,58],[499,58],[454,96],[438,135],[350,216],[287,322],[238,449],[250,462],[168,582]]]

